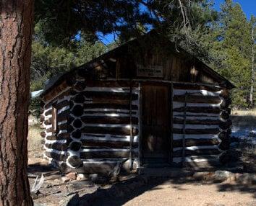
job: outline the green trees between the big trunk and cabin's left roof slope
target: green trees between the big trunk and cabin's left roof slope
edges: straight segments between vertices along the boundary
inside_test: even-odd
[[[69,71],[106,52],[107,47],[101,42],[80,40],[74,48],[54,47],[33,41],[30,73],[30,90],[43,89],[46,79],[58,73]]]

